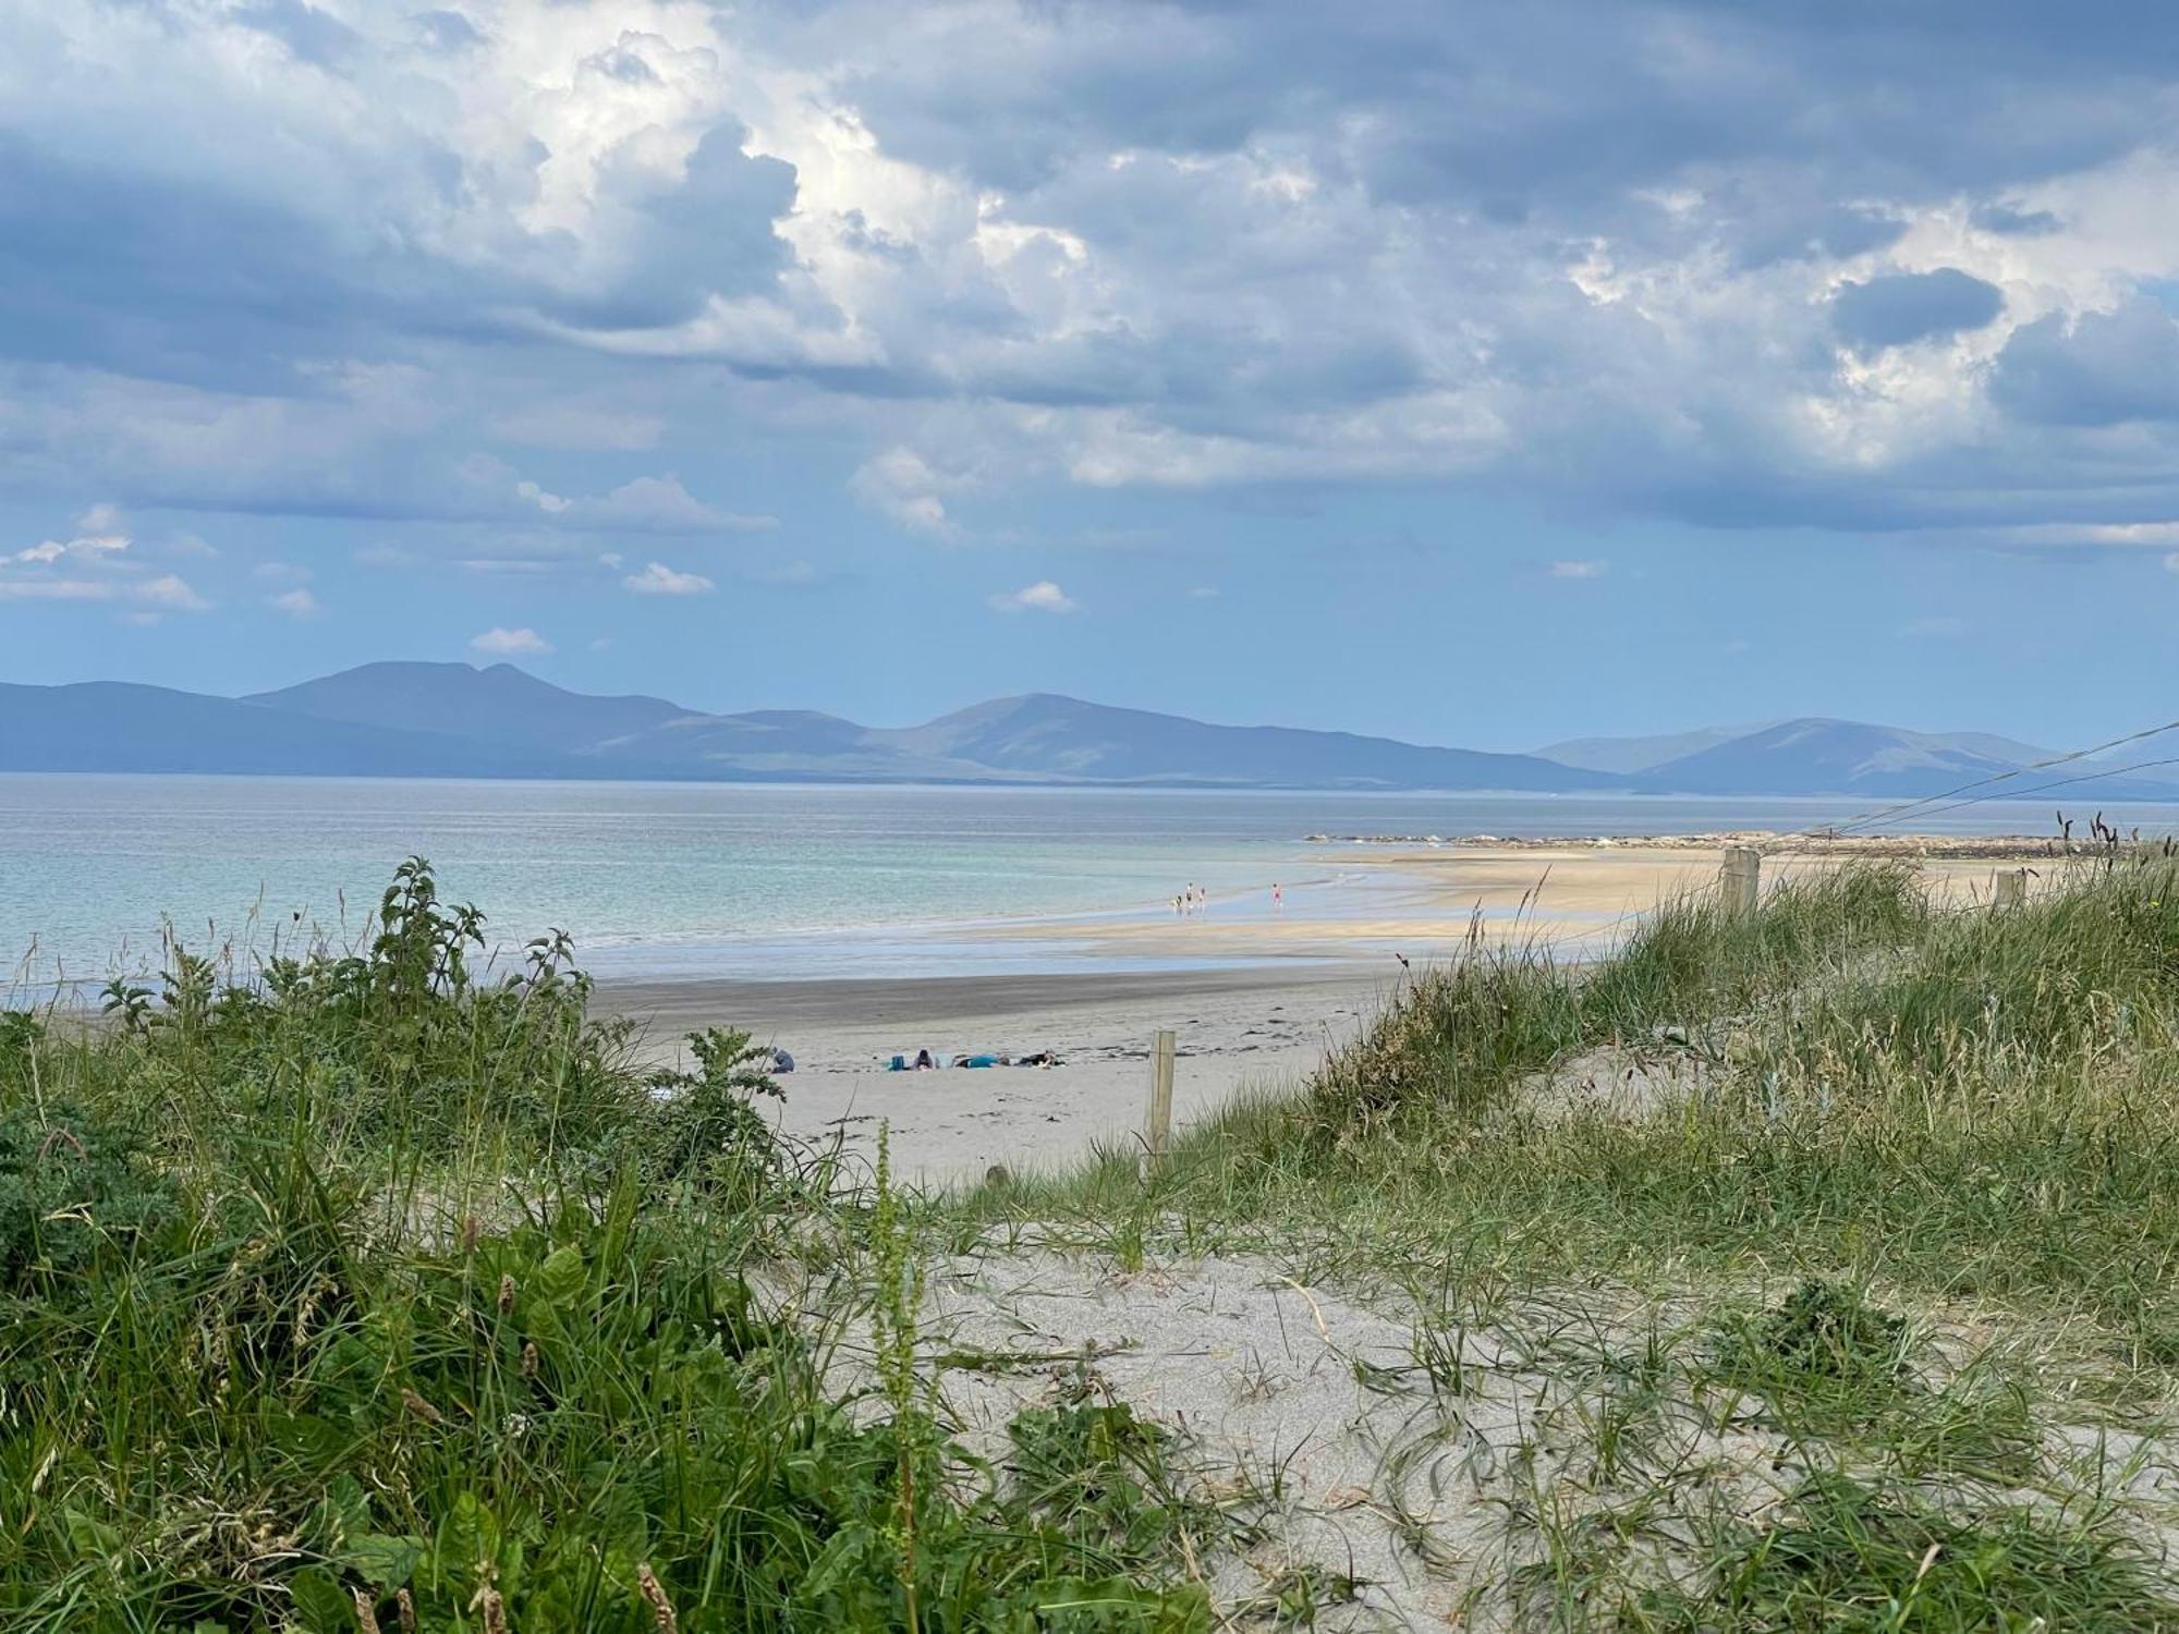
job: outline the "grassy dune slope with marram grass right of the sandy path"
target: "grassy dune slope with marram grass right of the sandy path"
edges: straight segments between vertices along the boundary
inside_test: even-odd
[[[1412,1373],[1358,1364],[1438,1401],[1375,1501],[1416,1529],[1464,1449],[1486,1621],[2179,1627],[2179,1512],[2125,1497],[2172,1460],[2175,1028],[2168,858],[2009,911],[1852,865],[1588,970],[1477,937],[1299,1096],[963,1214],[1416,1312]],[[1534,1397],[1510,1462],[1493,1381]]]

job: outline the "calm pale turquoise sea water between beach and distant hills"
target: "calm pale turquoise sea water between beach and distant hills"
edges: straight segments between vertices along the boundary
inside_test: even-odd
[[[1848,821],[1861,802],[1477,795],[390,782],[0,776],[0,959],[17,989],[102,980],[159,950],[340,937],[394,863],[495,937],[571,930],[599,974],[944,974],[1037,967],[948,928],[1155,913],[1212,891],[1368,889],[1312,832],[1669,834]],[[2085,813],[2083,813],[2085,817]],[[2179,806],[2118,815],[2179,830]],[[2042,832],[2044,806],[1985,804],[1915,828]],[[285,935],[285,930],[283,930]],[[985,965],[991,967],[991,965]]]

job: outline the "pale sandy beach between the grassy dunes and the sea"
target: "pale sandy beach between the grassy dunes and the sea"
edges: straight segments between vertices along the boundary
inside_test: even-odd
[[[1591,959],[1639,917],[1717,878],[1711,843],[1327,845],[1358,878],[1349,889],[1294,889],[1212,900],[1203,913],[987,926],[1005,952],[1035,941],[1048,959],[1072,950],[1081,970],[928,976],[911,980],[658,980],[601,983],[606,1009],[643,1022],[660,1061],[702,1026],[747,1028],[795,1057],[782,1078],[780,1122],[795,1135],[872,1155],[891,1126],[896,1170],[924,1183],[974,1181],[994,1163],[1013,1172],[1131,1142],[1148,1100],[1148,1052],[1177,1035],[1174,1124],[1249,1089],[1294,1087],[1362,1028],[1403,972],[1460,954],[1471,935],[1545,943]],[[1780,850],[1765,882],[1839,867],[1839,854]],[[1926,856],[1933,889],[1987,898],[2003,856]],[[2048,865],[2044,867],[2048,876]],[[963,932],[948,932],[950,939]],[[1405,963],[1401,963],[1405,961]],[[944,967],[944,961],[935,961]],[[1116,970],[1113,965],[1135,965]],[[1151,965],[1188,967],[1151,967]],[[1052,1050],[1057,1068],[939,1068],[889,1072],[893,1054]]]

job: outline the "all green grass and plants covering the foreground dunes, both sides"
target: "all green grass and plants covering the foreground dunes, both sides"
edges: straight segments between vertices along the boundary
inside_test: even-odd
[[[0,1017],[0,1623],[1368,1625],[1316,1503],[1480,1625],[2179,1627],[2179,869],[2046,885],[1477,937],[1151,1172],[917,1198],[776,1137],[743,1035],[645,1065],[564,939],[482,978],[412,863],[357,950]],[[952,1344],[939,1242],[1301,1290],[1375,1473],[1220,1466],[1124,1327]],[[1275,1407],[1312,1344],[1166,1366]]]

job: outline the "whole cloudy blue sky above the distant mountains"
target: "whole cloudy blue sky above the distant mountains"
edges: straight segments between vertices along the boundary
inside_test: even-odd
[[[2175,636],[2157,4],[0,0],[7,682],[2072,747]]]

